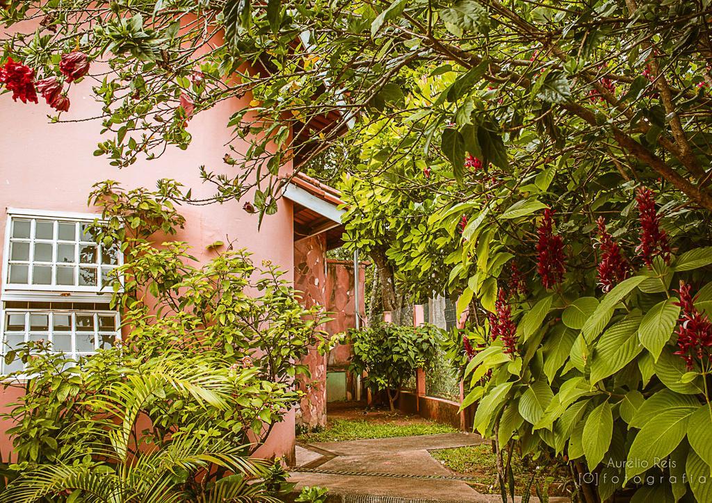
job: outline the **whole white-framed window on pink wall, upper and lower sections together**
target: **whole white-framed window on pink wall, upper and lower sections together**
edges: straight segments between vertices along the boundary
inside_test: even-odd
[[[0,298],[1,374],[21,371],[4,356],[27,341],[48,341],[73,358],[120,338],[111,309],[111,270],[122,265],[118,243],[97,244],[91,213],[9,208]]]

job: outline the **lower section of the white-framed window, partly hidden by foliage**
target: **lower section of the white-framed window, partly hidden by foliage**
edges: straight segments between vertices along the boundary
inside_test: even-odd
[[[108,304],[84,302],[6,302],[3,313],[2,374],[23,369],[4,356],[28,341],[48,341],[74,359],[112,346],[121,338],[119,313]]]

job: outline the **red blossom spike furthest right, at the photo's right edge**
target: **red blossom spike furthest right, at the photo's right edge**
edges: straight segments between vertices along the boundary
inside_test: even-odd
[[[680,318],[677,328],[677,345],[680,348],[675,354],[682,356],[686,361],[687,369],[693,368],[694,362],[699,361],[706,368],[712,362],[712,323],[706,314],[702,314],[694,305],[690,285],[680,282]]]

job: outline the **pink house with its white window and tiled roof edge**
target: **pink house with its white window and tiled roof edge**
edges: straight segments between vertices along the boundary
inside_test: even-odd
[[[86,81],[73,86],[72,105],[63,114],[64,120],[98,115],[100,108],[91,85]],[[92,184],[113,179],[126,189],[133,189],[153,187],[157,179],[170,178],[192,188],[194,198],[210,196],[212,189],[201,183],[199,166],[208,166],[213,171],[231,169],[222,160],[224,145],[231,139],[225,125],[248,101],[246,96],[221,102],[194,117],[188,126],[193,141],[186,151],[169,149],[159,159],[119,170],[110,166],[107,159],[93,156],[100,141],[98,120],[50,125],[46,106],[23,105],[13,102],[9,95],[0,96],[3,351],[8,344],[33,338],[51,339],[56,346],[73,354],[90,354],[103,344],[111,344],[119,329],[120,313],[109,309],[108,294],[100,290],[103,272],[119,263],[120,257],[115,250],[98,249],[83,237],[83,225],[93,221],[98,213],[98,208],[88,207],[86,202]],[[244,148],[247,146],[245,142]],[[283,175],[290,174],[292,169],[291,164],[286,164]],[[326,250],[340,245],[342,212],[337,209],[338,202],[333,189],[298,176],[288,186],[285,197],[278,201],[278,212],[265,216],[261,231],[256,215],[244,211],[241,202],[229,201],[221,205],[182,206],[180,211],[187,224],[171,239],[189,243],[193,255],[202,260],[219,252],[208,248],[211,243],[235,240],[236,246],[248,248],[254,254],[256,263],[271,260],[293,280],[295,265],[326,264]],[[304,240],[318,243],[318,249],[308,250]],[[353,266],[349,267],[353,278]],[[302,270],[298,273],[300,285],[313,285],[315,280],[325,282],[325,272],[314,275]],[[355,283],[330,288],[350,289],[350,293],[338,295],[346,295],[352,301]],[[325,302],[330,294],[320,290],[318,301]],[[309,297],[305,302],[315,301]],[[337,328],[352,326],[354,319],[352,308],[342,322],[344,326]],[[325,381],[320,364],[314,362],[313,369],[318,371],[315,378]],[[13,401],[19,392],[17,388],[0,391],[0,407]],[[286,415],[259,454],[293,457],[295,415],[295,411]],[[8,426],[0,425],[0,433]],[[10,447],[9,438],[0,438],[4,455]]]

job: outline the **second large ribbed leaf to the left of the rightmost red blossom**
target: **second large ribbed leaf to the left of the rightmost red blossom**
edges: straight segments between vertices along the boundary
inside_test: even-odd
[[[642,349],[637,334],[640,319],[639,312],[632,312],[604,332],[591,359],[592,384],[619,371],[639,354]]]

